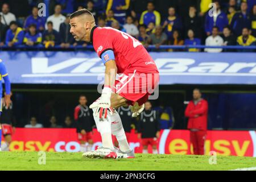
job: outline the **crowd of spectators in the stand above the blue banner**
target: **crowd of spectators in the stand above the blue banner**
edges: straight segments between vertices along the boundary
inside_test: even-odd
[[[44,1],[1,1],[0,46],[2,47],[86,47],[69,33],[69,15],[86,8],[100,27],[110,26],[134,36],[145,47],[155,45],[255,46],[255,0],[52,0],[49,16],[39,16]],[[216,13],[210,9],[214,3]],[[22,7],[19,6],[22,3]],[[31,14],[28,14],[31,12]],[[161,51],[179,51],[165,49]],[[189,48],[188,51],[201,51]],[[221,52],[221,48],[205,48]],[[234,51],[234,50],[232,50]],[[242,51],[248,51],[243,49]]]

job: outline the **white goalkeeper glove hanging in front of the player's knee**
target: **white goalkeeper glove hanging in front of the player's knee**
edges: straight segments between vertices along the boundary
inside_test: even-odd
[[[89,106],[90,109],[97,107],[95,111],[95,115],[97,116],[98,114],[100,114],[99,115],[100,119],[101,118],[106,119],[108,116],[108,111],[110,115],[113,114],[113,110],[110,103],[111,94],[112,94],[112,90],[108,87],[104,87],[104,89],[102,90],[100,99],[97,100],[96,102],[93,102],[93,104]]]

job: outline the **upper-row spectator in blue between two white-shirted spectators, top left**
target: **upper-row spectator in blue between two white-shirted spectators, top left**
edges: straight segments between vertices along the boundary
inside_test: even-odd
[[[24,28],[26,31],[31,24],[36,24],[36,30],[43,32],[44,31],[45,20],[43,17],[38,16],[38,7],[32,8],[32,15],[28,16],[24,23]]]

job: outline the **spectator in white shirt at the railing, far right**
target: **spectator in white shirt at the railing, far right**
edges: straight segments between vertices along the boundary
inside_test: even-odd
[[[224,43],[220,35],[218,35],[218,27],[212,28],[212,35],[205,40],[205,46],[222,46]],[[205,48],[205,52],[221,52],[222,48]]]

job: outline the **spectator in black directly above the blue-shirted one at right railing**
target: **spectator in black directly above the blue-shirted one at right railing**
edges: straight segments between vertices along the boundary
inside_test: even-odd
[[[196,7],[190,6],[188,16],[185,16],[185,32],[192,30],[197,38],[201,38],[201,20],[196,15]]]

